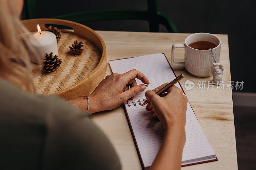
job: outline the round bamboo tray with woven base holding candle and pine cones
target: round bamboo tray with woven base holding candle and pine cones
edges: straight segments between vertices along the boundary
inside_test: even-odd
[[[51,73],[38,72],[42,65],[34,64],[34,77],[37,94],[58,95],[66,100],[90,94],[105,77],[107,70],[106,46],[103,39],[91,28],[62,19],[28,19],[22,23],[30,32],[36,32],[36,25],[45,30],[45,24],[65,25],[73,30],[61,30],[58,42],[60,67]],[[74,41],[83,41],[84,52],[74,56],[68,46]]]

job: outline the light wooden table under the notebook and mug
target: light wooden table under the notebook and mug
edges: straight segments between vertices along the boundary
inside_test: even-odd
[[[170,61],[174,43],[184,43],[187,33],[109,32],[97,31],[107,46],[107,59],[115,60],[154,53],[165,53]],[[217,35],[221,40],[220,63],[224,65],[223,81],[230,81],[228,35]],[[184,61],[184,49],[175,49],[175,60]],[[185,74],[180,81],[218,161],[182,167],[182,169],[237,169],[236,138],[232,93],[229,89],[197,89],[197,81],[212,81],[212,76],[199,78],[185,69],[175,69],[176,75]],[[111,74],[108,64],[107,74]],[[191,80],[195,88],[185,89]],[[226,88],[226,87],[225,87]],[[141,169],[140,160],[127,123],[123,106],[94,114],[93,121],[107,134],[114,145],[123,169]]]

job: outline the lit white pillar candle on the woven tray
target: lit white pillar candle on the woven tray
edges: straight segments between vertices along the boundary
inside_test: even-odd
[[[59,53],[55,34],[49,31],[41,31],[38,24],[37,30],[38,32],[35,32],[28,37],[28,43],[32,45],[39,54],[39,58],[32,58],[31,61],[39,64],[45,53],[49,54],[52,52],[53,55],[59,55]]]

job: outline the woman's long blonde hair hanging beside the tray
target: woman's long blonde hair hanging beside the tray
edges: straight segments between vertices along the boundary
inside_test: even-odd
[[[29,55],[36,53],[26,43],[25,33],[28,33],[28,30],[20,21],[14,1],[0,0],[0,4],[0,77],[24,91],[31,92],[33,80]],[[28,53],[28,49],[31,53]]]

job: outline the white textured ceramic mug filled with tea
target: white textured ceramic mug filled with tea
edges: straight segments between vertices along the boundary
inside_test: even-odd
[[[195,41],[210,41],[217,46],[212,49],[212,53],[216,62],[220,62],[220,39],[209,33],[195,33],[189,35],[185,39],[185,44],[173,44],[172,45],[172,56],[171,65],[177,67],[184,67],[186,70],[197,77],[208,77],[211,76],[211,68],[214,60],[212,53],[209,50],[197,50],[188,46]],[[185,62],[174,62],[174,49],[185,48]]]

